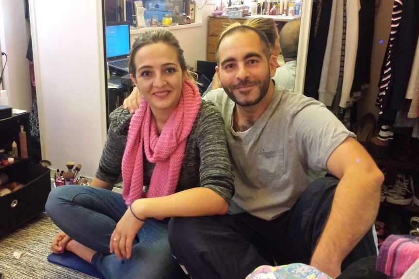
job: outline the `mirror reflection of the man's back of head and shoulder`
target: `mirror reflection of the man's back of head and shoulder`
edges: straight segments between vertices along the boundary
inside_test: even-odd
[[[294,18],[282,27],[279,32],[279,45],[285,64],[277,68],[273,77],[275,84],[285,89],[294,89],[296,80],[298,39],[301,19]]]

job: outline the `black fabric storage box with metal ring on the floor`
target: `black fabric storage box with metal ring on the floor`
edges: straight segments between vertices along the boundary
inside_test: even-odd
[[[51,191],[50,169],[29,160],[17,161],[0,167],[9,177],[25,186],[0,197],[0,235],[45,211],[45,202]]]

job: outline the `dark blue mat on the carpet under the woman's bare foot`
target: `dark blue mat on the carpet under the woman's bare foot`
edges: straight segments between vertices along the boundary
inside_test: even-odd
[[[50,254],[48,257],[48,262],[56,263],[80,272],[83,272],[92,277],[105,279],[90,263],[87,263],[85,260],[80,258],[70,251],[65,251],[62,254]]]

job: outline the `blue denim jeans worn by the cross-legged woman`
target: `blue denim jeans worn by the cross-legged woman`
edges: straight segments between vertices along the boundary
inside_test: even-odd
[[[98,252],[92,264],[107,279],[184,277],[172,257],[167,221],[145,221],[134,239],[129,260],[109,254],[111,234],[127,210],[121,194],[90,186],[60,186],[51,191],[45,209],[72,239]]]

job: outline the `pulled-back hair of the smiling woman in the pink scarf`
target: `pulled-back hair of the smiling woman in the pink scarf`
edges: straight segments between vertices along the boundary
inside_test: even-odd
[[[167,30],[152,30],[146,31],[141,33],[137,39],[135,40],[134,44],[131,47],[131,51],[129,54],[129,72],[135,77],[136,75],[136,68],[134,65],[134,57],[135,54],[139,49],[142,47],[156,44],[156,43],[164,43],[173,49],[175,49],[177,54],[177,61],[179,62],[180,68],[182,71],[187,71],[187,78],[190,79],[192,82],[195,82],[194,76],[195,73],[188,70],[188,66],[186,66],[185,57],[183,56],[183,49],[180,47],[179,41],[176,39],[175,35]]]

